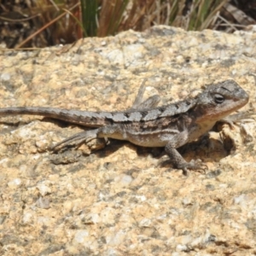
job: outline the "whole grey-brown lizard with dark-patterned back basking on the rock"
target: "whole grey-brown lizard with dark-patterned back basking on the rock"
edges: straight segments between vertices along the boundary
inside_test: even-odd
[[[156,107],[159,97],[152,96],[141,102],[143,86],[131,109],[115,112],[92,112],[61,108],[13,107],[0,108],[0,117],[14,114],[42,115],[95,129],[82,131],[68,137],[53,148],[67,143],[88,143],[96,138],[113,138],[129,141],[143,147],[164,147],[172,166],[182,169],[201,170],[201,160],[187,162],[177,148],[195,141],[218,120],[247,104],[249,96],[236,81],[228,79],[210,84],[198,96],[166,106]]]

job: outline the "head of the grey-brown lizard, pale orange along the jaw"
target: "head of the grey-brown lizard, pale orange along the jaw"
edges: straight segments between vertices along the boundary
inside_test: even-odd
[[[212,84],[197,97],[196,122],[216,122],[247,104],[249,96],[234,80]]]

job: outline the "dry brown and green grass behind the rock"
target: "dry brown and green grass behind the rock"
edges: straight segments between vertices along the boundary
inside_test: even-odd
[[[255,24],[253,18],[228,0],[80,0],[79,3],[77,0],[12,0],[0,3],[3,31],[0,41],[16,49],[69,44],[83,37],[106,37],[128,29],[143,31],[160,24],[185,30],[209,28],[227,32]],[[20,26],[22,29],[17,28]]]

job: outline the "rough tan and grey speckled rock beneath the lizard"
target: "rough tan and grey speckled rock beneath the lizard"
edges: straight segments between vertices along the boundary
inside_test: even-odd
[[[235,79],[256,109],[256,33],[155,26],[34,51],[2,51],[0,107],[130,108]],[[159,150],[111,142],[86,155],[47,148],[81,127],[35,116],[0,119],[1,255],[255,255],[255,120],[181,149],[206,174],[173,170]],[[224,143],[223,143],[224,142]],[[227,146],[228,145],[228,146]],[[230,146],[229,146],[230,145]],[[88,148],[87,148],[88,149]],[[164,163],[164,164],[163,164]]]

